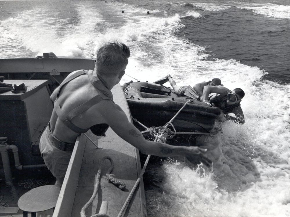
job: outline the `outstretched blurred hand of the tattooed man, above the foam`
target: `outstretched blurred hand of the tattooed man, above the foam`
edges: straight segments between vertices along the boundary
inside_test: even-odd
[[[211,166],[212,161],[204,156],[204,153],[207,151],[206,148],[200,148],[197,146],[190,146],[188,148],[188,154],[185,156],[187,160],[189,160],[191,163],[195,163],[197,160],[199,160],[207,167]]]

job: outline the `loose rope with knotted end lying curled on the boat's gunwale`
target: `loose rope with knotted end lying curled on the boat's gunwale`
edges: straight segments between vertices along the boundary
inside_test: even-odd
[[[121,190],[124,190],[126,188],[126,184],[122,181],[117,181],[117,179],[115,179],[113,177],[112,174],[110,174],[110,172],[112,172],[113,168],[114,168],[114,162],[112,160],[112,158],[106,156],[103,157],[102,160],[100,161],[100,166],[97,172],[97,175],[95,177],[95,186],[94,186],[94,192],[93,195],[91,196],[91,198],[89,199],[89,201],[84,205],[83,208],[81,208],[81,217],[86,217],[86,209],[93,203],[93,201],[95,200],[95,198],[97,198],[98,201],[98,189],[99,189],[99,183],[100,183],[100,176],[101,176],[101,172],[102,172],[102,166],[104,164],[104,161],[108,159],[111,162],[111,166],[108,169],[107,173],[106,173],[106,177],[107,177],[107,181],[113,183],[114,185],[116,185],[117,187],[119,187]],[[95,217],[95,216],[108,216],[108,215],[104,215],[104,214],[95,214],[91,217]]]

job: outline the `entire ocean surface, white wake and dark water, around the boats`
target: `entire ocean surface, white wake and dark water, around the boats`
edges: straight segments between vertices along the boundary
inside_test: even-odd
[[[290,216],[289,32],[288,0],[0,1],[0,58],[95,57],[118,40],[131,47],[121,83],[218,77],[245,91],[246,123],[203,140],[212,169],[148,166],[148,216]]]

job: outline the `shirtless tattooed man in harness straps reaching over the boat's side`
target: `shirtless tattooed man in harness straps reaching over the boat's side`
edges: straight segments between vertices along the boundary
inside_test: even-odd
[[[113,102],[110,90],[124,75],[129,56],[130,48],[122,43],[104,45],[97,54],[96,71],[70,73],[50,96],[54,109],[39,147],[46,166],[59,185],[63,183],[77,136],[90,128],[95,130],[104,126],[105,129],[110,126],[119,137],[146,155],[182,156],[191,162],[200,157],[207,166],[211,164],[203,154],[206,149],[145,140]]]

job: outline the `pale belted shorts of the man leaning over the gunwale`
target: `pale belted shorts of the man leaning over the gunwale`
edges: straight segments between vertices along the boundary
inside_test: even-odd
[[[63,178],[66,175],[72,151],[62,151],[52,145],[52,143],[59,142],[61,141],[52,135],[48,125],[41,135],[39,149],[41,157],[52,175],[56,178]]]

